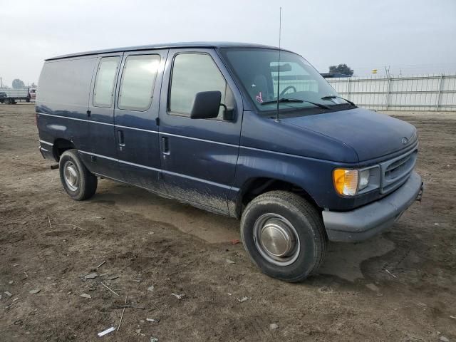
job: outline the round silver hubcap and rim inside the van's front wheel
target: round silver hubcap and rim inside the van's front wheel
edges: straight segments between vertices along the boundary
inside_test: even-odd
[[[257,219],[254,240],[261,256],[280,266],[292,264],[301,250],[293,224],[279,214],[263,214]]]

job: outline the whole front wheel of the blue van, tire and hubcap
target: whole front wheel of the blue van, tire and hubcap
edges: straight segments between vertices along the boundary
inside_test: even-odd
[[[266,192],[247,205],[241,237],[261,271],[284,281],[306,279],[326,250],[321,214],[306,199],[286,191]]]

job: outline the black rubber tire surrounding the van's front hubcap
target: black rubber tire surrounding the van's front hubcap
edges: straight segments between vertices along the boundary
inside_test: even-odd
[[[279,261],[273,260],[274,257],[261,247],[263,235],[260,234],[261,237],[258,237],[257,222],[261,222],[261,218],[268,217],[269,214],[277,215],[284,219],[284,222],[291,224],[294,232],[294,252],[292,257],[286,256],[289,259],[284,264],[278,264],[281,257],[275,257]],[[327,244],[323,219],[318,210],[303,197],[286,191],[266,192],[247,205],[242,213],[241,238],[250,259],[264,274],[289,282],[303,281],[316,271],[323,261]]]

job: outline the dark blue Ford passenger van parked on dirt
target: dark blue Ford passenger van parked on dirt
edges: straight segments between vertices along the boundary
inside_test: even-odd
[[[420,198],[415,127],[339,97],[296,53],[172,43],[45,61],[43,157],[76,200],[98,178],[241,220],[252,261],[301,281],[328,240],[390,227]]]

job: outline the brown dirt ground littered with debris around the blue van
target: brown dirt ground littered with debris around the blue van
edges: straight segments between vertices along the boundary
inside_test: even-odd
[[[400,115],[420,133],[423,202],[287,284],[231,243],[235,219],[109,180],[71,200],[33,105],[0,105],[0,340],[101,341],[123,314],[105,341],[456,341],[456,113]]]

